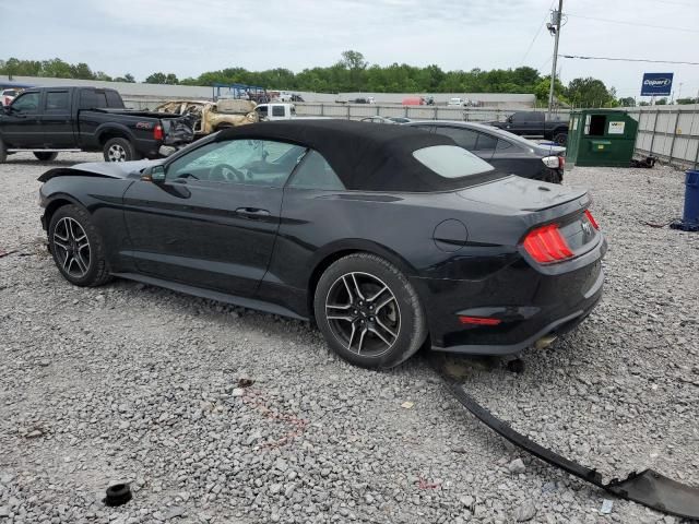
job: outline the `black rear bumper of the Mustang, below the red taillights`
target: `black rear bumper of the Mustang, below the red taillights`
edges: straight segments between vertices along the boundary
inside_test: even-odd
[[[581,258],[581,264],[570,271],[557,269],[556,273],[537,271],[519,260],[476,281],[412,279],[428,312],[431,348],[511,355],[543,336],[574,329],[602,298],[605,251],[606,242],[602,241],[594,252]],[[500,323],[463,325],[461,315],[498,319]]]

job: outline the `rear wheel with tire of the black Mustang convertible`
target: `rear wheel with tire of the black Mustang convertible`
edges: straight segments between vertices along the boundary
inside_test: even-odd
[[[346,287],[353,275],[356,281],[351,286],[355,291]],[[382,286],[387,290],[372,297]],[[354,296],[357,287],[358,297]],[[330,302],[341,303],[348,318],[339,320],[328,314],[329,309],[340,310]],[[332,263],[318,281],[313,310],[330,348],[363,368],[398,366],[417,352],[427,337],[425,313],[415,288],[393,264],[370,253],[350,254]]]

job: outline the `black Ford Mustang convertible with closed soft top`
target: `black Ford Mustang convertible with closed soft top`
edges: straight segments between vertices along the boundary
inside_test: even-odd
[[[69,282],[117,276],[313,319],[364,367],[425,343],[518,353],[602,294],[606,242],[585,191],[499,172],[416,129],[264,122],[39,180]]]

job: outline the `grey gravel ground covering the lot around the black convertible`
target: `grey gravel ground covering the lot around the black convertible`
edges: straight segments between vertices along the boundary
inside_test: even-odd
[[[371,372],[305,323],[69,285],[38,223],[45,169],[0,166],[0,250],[17,250],[0,259],[0,524],[678,522],[620,500],[603,514],[604,492],[482,426],[424,356]],[[608,235],[603,303],[521,374],[463,362],[493,412],[606,477],[652,466],[699,485],[699,234],[641,224],[679,215],[682,181],[570,172]],[[118,481],[134,498],[106,508]]]

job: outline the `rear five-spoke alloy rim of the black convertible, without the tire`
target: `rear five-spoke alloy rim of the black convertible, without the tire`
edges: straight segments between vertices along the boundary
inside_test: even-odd
[[[325,318],[350,352],[367,357],[379,357],[391,349],[401,331],[395,295],[369,273],[346,273],[330,286]]]

